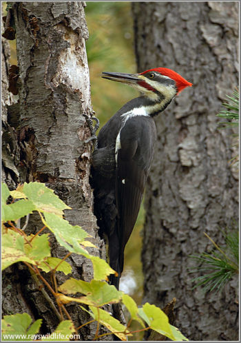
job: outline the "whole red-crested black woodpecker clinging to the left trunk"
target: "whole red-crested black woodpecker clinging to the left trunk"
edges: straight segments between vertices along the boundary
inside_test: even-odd
[[[118,289],[124,249],[134,228],[154,155],[154,116],[192,84],[167,68],[140,74],[103,72],[102,77],[126,83],[142,93],[126,103],[102,127],[92,156],[94,213],[109,245],[109,264],[118,276],[109,282]]]

